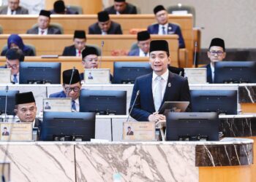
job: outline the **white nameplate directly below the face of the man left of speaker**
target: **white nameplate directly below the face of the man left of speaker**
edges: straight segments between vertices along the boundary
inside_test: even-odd
[[[95,68],[84,70],[85,84],[110,84],[110,69]]]

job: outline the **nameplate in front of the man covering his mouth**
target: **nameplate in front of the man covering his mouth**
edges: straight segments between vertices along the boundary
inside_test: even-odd
[[[43,111],[71,112],[71,98],[44,98]]]

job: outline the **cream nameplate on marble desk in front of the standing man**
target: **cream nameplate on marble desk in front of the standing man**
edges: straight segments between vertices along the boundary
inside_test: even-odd
[[[155,122],[123,122],[124,141],[155,141]]]

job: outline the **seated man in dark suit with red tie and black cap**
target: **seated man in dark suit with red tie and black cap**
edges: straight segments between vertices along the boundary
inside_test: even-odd
[[[82,52],[86,46],[86,32],[85,31],[75,31],[74,33],[74,44],[68,47],[65,47],[62,55],[63,56],[82,56]]]

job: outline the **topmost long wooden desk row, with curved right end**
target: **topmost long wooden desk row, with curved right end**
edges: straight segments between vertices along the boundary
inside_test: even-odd
[[[121,24],[124,34],[131,28],[147,28],[155,23],[154,15],[110,15],[113,21]],[[169,21],[178,23],[184,36],[188,50],[188,62],[183,67],[191,67],[193,60],[193,31],[192,15],[169,15]],[[37,15],[0,15],[0,24],[4,33],[26,33],[32,25],[37,23]],[[11,22],[11,23],[10,23]],[[52,23],[60,23],[64,33],[73,34],[75,30],[85,30],[89,25],[97,22],[97,15],[52,15]]]

